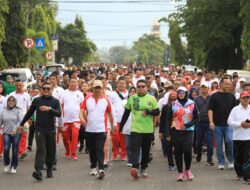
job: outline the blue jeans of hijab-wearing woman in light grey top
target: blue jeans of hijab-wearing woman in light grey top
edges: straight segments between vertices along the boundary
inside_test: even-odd
[[[10,134],[4,134],[4,165],[10,164],[10,148],[12,146],[12,160],[11,167],[17,168],[18,165],[18,145],[21,139],[21,134],[11,136]]]

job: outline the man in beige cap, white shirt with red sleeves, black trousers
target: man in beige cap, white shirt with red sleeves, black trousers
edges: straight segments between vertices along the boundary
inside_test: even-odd
[[[108,131],[108,120],[113,131],[112,107],[109,99],[103,95],[103,83],[95,80],[92,85],[93,95],[84,99],[81,104],[81,123],[86,126],[86,143],[89,149],[91,162],[90,175],[97,175],[103,179],[104,171],[104,144]],[[97,172],[97,164],[99,171]]]

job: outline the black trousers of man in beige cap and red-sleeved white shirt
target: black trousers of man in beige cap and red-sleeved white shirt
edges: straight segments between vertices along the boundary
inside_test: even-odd
[[[86,144],[89,150],[90,168],[96,168],[98,164],[99,170],[104,170],[104,144],[106,141],[106,133],[90,133],[86,132]]]

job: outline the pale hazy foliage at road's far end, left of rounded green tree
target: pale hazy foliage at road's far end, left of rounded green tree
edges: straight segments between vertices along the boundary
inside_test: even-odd
[[[114,46],[109,49],[110,62],[116,64],[133,64],[137,53],[133,49],[124,46]]]

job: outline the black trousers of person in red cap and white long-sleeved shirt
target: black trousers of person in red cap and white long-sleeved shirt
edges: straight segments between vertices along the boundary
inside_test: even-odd
[[[250,140],[234,141],[234,169],[237,176],[250,180]]]

